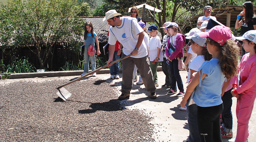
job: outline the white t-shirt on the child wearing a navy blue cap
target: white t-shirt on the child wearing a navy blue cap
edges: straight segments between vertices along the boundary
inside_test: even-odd
[[[151,37],[149,39],[148,45],[149,45],[149,53],[148,53],[149,61],[153,61],[157,57],[158,48],[161,49],[162,47],[160,37],[157,35],[155,37]],[[161,51],[159,54],[159,59],[160,59],[159,61],[163,61],[163,54],[161,54]]]

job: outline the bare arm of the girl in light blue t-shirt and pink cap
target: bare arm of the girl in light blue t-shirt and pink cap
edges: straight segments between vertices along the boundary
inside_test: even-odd
[[[202,74],[202,70],[200,70],[200,74]],[[191,82],[188,84],[187,86],[187,90],[186,93],[184,95],[183,100],[180,102],[180,106],[182,108],[185,108],[185,105],[187,103],[188,98],[190,97],[191,93],[194,91],[194,89],[196,88],[196,86],[199,84],[199,79],[200,79],[200,74],[199,72],[196,73],[196,76],[191,80]],[[202,80],[204,79],[204,77],[206,76],[205,73],[203,73],[202,75]]]

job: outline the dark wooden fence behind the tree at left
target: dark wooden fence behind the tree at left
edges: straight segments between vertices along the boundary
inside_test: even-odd
[[[106,43],[100,43],[101,53],[103,53],[102,47],[105,44]],[[33,51],[36,51],[36,47],[34,46],[31,46],[29,48],[31,48]],[[0,59],[3,59],[4,64],[8,65],[9,62],[12,60],[13,56],[17,57],[18,59],[25,56],[26,58],[28,58],[29,63],[33,64],[36,67],[36,69],[40,69],[38,57],[29,48],[18,47],[15,49],[5,49],[4,51],[0,49]],[[102,57],[104,62],[107,59],[107,57],[104,54],[101,54],[99,57]],[[62,44],[57,44],[53,50],[53,55],[48,56],[47,62],[44,65],[44,69],[46,69],[47,71],[59,71],[59,69],[63,67],[66,64],[66,62],[78,66],[79,60],[84,60],[84,57],[80,55],[80,51],[74,52],[70,50],[70,47],[64,48]]]

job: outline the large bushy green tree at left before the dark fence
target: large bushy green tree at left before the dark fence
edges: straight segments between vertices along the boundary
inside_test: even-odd
[[[4,48],[34,44],[36,50],[31,51],[43,69],[56,42],[68,42],[78,50],[83,33],[78,12],[73,0],[10,0],[0,12],[0,43]]]

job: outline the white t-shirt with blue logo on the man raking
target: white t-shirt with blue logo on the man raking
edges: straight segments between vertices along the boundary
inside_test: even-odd
[[[138,38],[143,29],[138,24],[137,20],[132,17],[121,17],[122,24],[120,26],[110,27],[108,44],[115,45],[118,40],[123,45],[124,55],[129,55],[138,42]],[[145,41],[143,40],[139,52],[134,58],[142,58],[148,55]]]

